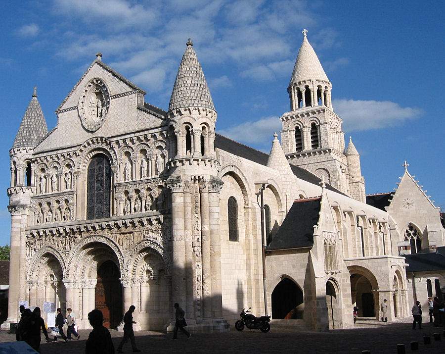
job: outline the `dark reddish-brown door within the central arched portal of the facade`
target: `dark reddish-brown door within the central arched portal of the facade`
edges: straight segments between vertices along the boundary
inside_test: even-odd
[[[97,268],[97,284],[94,291],[94,307],[103,313],[103,325],[117,328],[122,320],[122,286],[119,269],[112,260]]]

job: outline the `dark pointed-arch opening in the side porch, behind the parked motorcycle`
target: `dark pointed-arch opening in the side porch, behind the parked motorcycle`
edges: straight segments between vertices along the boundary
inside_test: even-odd
[[[304,301],[300,287],[283,278],[272,291],[273,319],[303,319]]]

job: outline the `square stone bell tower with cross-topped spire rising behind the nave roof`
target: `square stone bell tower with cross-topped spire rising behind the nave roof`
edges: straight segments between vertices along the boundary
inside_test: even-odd
[[[281,143],[289,162],[348,193],[342,119],[332,107],[330,83],[303,30],[303,43],[287,88],[290,111],[281,116]]]

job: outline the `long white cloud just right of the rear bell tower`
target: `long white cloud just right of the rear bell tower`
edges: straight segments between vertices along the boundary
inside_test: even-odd
[[[422,114],[419,108],[401,107],[391,101],[342,99],[333,100],[332,105],[348,132],[392,127]]]

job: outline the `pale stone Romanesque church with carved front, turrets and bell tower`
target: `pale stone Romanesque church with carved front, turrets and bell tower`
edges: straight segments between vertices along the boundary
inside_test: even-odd
[[[305,31],[269,154],[215,133],[190,40],[167,111],[101,57],[49,132],[34,92],[10,150],[7,322],[20,301],[54,302],[81,328],[93,308],[117,328],[134,304],[139,328],[169,330],[178,302],[191,331],[224,331],[243,307],[265,312],[263,282],[273,319],[312,330],[352,326],[354,305],[378,318],[383,299],[389,320],[408,316],[403,209],[366,203]],[[443,228],[424,224],[422,245],[442,246]]]

